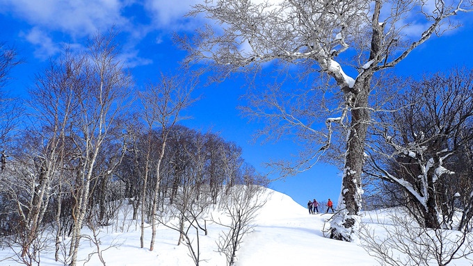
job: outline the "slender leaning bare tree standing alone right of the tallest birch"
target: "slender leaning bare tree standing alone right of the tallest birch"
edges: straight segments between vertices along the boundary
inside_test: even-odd
[[[161,147],[156,147],[158,151],[157,162],[155,166],[156,183],[153,190],[151,223],[152,237],[150,250],[154,249],[154,240],[156,238],[156,221],[155,215],[157,211],[157,203],[159,196],[159,184],[161,182],[161,162],[163,161],[164,151],[166,150],[166,142],[169,133],[173,130],[173,126],[182,119],[186,119],[181,115],[182,110],[191,106],[195,99],[191,98],[196,83],[191,80],[179,78],[178,76],[166,76],[161,74],[158,83],[150,84],[147,90],[141,94],[143,103],[144,119],[149,126],[149,133],[155,126],[159,127]],[[150,152],[150,140],[148,142],[148,151]],[[145,166],[145,183],[147,179],[147,167],[149,163],[149,155],[147,155]],[[144,193],[145,190],[143,190]],[[143,217],[142,217],[142,242],[143,242]]]

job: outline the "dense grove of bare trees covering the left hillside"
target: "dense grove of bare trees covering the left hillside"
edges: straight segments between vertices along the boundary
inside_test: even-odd
[[[8,71],[22,62],[5,44],[0,51],[1,85],[6,85]],[[194,255],[187,233],[192,226],[200,228],[195,226],[202,216],[195,213],[198,208],[223,204],[225,198],[247,199],[248,211],[258,202],[249,201],[257,194],[250,187],[266,181],[243,160],[241,147],[179,124],[188,118],[182,111],[196,100],[197,83],[182,73],[161,74],[138,91],[119,56],[116,33],[97,33],[86,51],[66,47],[51,60],[35,76],[24,104],[2,94],[8,115],[1,123],[0,243],[17,251],[13,259],[19,263],[39,263],[40,252],[55,238],[56,260],[77,265],[83,228],[96,237],[97,228],[118,219],[125,199],[132,219],[141,219],[142,248],[145,223],[152,226],[152,250],[157,223],[174,213],[179,243],[183,240]],[[15,124],[15,118],[24,123]],[[242,185],[246,192],[236,192]],[[166,213],[169,206],[173,211]],[[239,217],[234,226],[249,230],[250,218],[243,217],[242,225]],[[241,242],[226,241],[235,250]],[[233,260],[234,251],[227,253]]]

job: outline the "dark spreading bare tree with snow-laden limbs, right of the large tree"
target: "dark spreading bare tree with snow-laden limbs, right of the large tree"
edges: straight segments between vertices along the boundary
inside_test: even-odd
[[[452,228],[456,199],[473,191],[460,185],[468,179],[470,169],[462,167],[468,160],[458,162],[468,158],[473,141],[472,87],[471,70],[426,76],[392,103],[398,112],[380,114],[384,126],[373,128],[378,142],[368,149],[367,173],[396,185],[427,228]],[[473,201],[463,203],[467,222]]]

